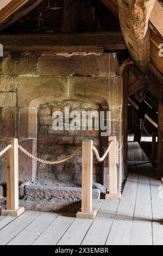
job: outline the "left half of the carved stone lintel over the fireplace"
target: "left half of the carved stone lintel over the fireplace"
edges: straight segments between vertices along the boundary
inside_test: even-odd
[[[67,77],[19,77],[18,105],[20,107],[37,107],[41,103],[68,99],[67,87]]]

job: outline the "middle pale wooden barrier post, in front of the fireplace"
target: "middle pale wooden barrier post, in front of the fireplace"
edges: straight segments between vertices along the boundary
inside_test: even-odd
[[[83,141],[82,161],[82,210],[77,218],[93,219],[97,210],[92,210],[93,141]]]

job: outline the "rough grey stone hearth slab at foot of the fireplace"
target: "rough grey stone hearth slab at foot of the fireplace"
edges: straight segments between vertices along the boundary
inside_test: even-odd
[[[93,199],[99,199],[100,194],[101,190],[93,188]],[[82,200],[82,188],[71,181],[60,182],[45,179],[34,182],[26,181],[19,187],[19,197],[20,206],[26,210],[67,212],[67,207],[71,208],[76,204],[77,213]],[[3,203],[3,208],[5,208],[5,203]]]

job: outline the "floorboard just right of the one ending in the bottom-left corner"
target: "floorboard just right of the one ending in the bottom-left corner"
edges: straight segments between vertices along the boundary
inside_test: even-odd
[[[59,214],[42,212],[27,228],[23,229],[8,245],[32,245]]]

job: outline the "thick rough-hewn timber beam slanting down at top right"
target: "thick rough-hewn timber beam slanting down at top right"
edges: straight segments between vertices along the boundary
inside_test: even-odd
[[[122,34],[135,63],[143,72],[150,62],[148,21],[155,0],[118,0]]]

